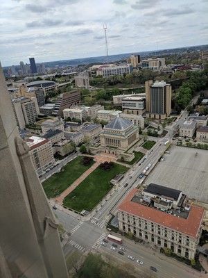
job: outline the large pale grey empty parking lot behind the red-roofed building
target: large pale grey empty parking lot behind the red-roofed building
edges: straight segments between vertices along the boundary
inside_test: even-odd
[[[208,151],[172,146],[145,183],[175,188],[190,199],[208,203]]]

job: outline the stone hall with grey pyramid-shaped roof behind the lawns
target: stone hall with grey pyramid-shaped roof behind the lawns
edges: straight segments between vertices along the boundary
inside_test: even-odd
[[[126,150],[139,138],[138,127],[131,121],[116,117],[112,122],[103,127],[100,133],[101,147],[116,147]]]

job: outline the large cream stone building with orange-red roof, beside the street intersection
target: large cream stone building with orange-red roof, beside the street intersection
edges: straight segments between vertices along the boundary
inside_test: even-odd
[[[132,189],[118,207],[119,229],[132,233],[137,238],[153,246],[169,248],[173,253],[187,259],[194,259],[202,231],[205,210],[199,206],[184,203],[184,207],[168,208],[167,211],[157,204],[171,206],[180,192],[172,188],[156,186],[152,196],[143,195]],[[150,191],[150,190],[148,190]],[[157,192],[159,191],[159,195]],[[166,198],[166,195],[168,197]],[[162,199],[166,201],[162,201]]]

